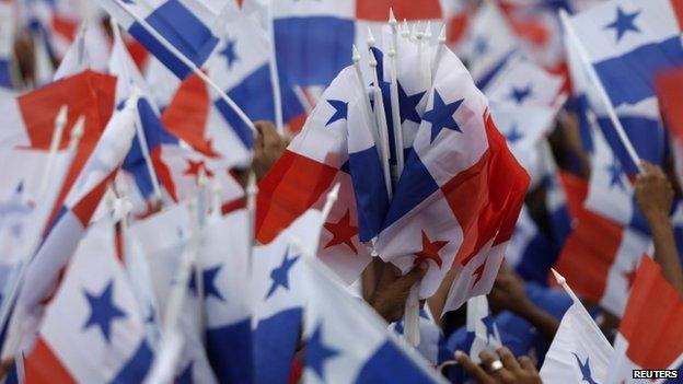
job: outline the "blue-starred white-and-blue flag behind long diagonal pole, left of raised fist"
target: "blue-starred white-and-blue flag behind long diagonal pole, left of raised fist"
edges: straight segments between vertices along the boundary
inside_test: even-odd
[[[252,121],[277,121],[274,92],[279,92],[282,121],[289,124],[304,114],[302,101],[285,68],[277,73],[276,86],[270,73],[270,42],[265,31],[253,19],[234,10],[234,15],[223,22],[222,40],[216,54],[207,61],[211,79],[230,96]],[[213,107],[223,120],[239,133],[250,138],[253,133],[218,95],[212,96]]]

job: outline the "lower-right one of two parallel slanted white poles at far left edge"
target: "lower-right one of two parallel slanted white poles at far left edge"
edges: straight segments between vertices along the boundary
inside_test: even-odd
[[[71,168],[71,165],[73,164],[73,160],[76,159],[76,152],[77,152],[79,142],[81,141],[81,138],[83,137],[83,131],[85,128],[84,121],[85,121],[84,116],[79,117],[79,119],[76,121],[76,125],[73,126],[73,129],[71,130],[71,136],[69,138],[70,140],[69,147],[67,149],[68,158],[65,159],[65,161],[69,164],[69,166],[61,167],[62,170],[60,171],[63,171],[63,172],[58,172],[56,175],[53,175],[50,172],[50,174],[48,175],[50,176],[50,179],[49,179],[49,183],[47,184],[47,188],[40,191],[40,198],[38,199],[38,201],[42,203],[38,207],[43,207],[43,210],[44,210],[43,213],[45,213],[44,219],[46,220],[49,219],[49,212],[51,211],[53,207],[57,202],[60,188],[63,184],[63,181],[67,177],[69,170]],[[36,207],[36,209],[40,209],[38,207]],[[47,224],[49,223],[43,222],[43,223],[34,223],[33,225],[47,225]],[[38,249],[38,246],[40,245],[42,231],[43,231],[42,226],[37,228],[36,231],[32,231],[32,233],[35,235],[34,238],[27,242],[25,246],[22,246],[22,249],[20,251],[21,258],[18,263],[16,272],[12,274],[12,276],[7,280],[4,284],[3,292],[5,292],[5,294],[2,299],[2,304],[0,304],[0,328],[5,328],[5,327],[11,326],[11,324],[8,324],[12,321],[12,318],[10,317],[11,309],[14,302],[16,301],[16,295],[19,294],[19,290],[23,282],[24,275],[26,274],[26,268],[28,268],[28,264],[31,263],[36,251]],[[14,356],[14,353],[19,350],[19,347],[23,337],[24,335],[21,331],[9,334],[7,336],[7,341],[4,342],[4,348],[2,349],[2,360],[4,360],[8,357]]]

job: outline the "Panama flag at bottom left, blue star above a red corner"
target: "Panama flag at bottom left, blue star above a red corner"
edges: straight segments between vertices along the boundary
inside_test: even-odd
[[[104,220],[80,243],[26,353],[27,383],[131,383],[147,375],[153,352],[114,232]]]

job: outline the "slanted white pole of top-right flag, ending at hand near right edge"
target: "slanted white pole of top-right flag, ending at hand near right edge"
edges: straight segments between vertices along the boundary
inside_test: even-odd
[[[593,86],[598,91],[598,95],[600,96],[600,100],[602,101],[602,103],[607,109],[607,116],[610,117],[610,120],[612,121],[612,125],[614,126],[614,129],[616,130],[616,135],[618,136],[620,140],[624,144],[624,148],[626,149],[626,152],[628,153],[628,156],[630,158],[630,160],[636,164],[636,166],[638,166],[639,173],[643,174],[644,170],[643,170],[643,165],[640,164],[640,158],[638,156],[638,152],[636,152],[630,140],[628,139],[628,136],[626,135],[626,131],[624,130],[624,126],[622,125],[622,121],[618,119],[618,116],[616,116],[616,112],[614,110],[612,101],[610,100],[607,92],[602,85],[602,82],[600,81],[600,77],[598,77],[598,72],[595,72],[595,68],[590,62],[588,53],[586,51],[586,47],[583,47],[583,44],[581,43],[579,37],[576,35],[576,31],[574,31],[574,27],[571,26],[571,23],[569,22],[569,16],[567,15],[567,12],[565,10],[559,10],[559,19],[565,28],[565,33],[567,34],[568,42],[571,43],[574,47],[576,48],[578,58],[581,60],[581,63],[587,70],[588,75]]]

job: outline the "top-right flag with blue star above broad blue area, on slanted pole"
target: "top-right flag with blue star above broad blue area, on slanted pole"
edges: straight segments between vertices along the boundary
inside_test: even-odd
[[[655,78],[683,65],[682,7],[671,0],[613,0],[570,19],[630,142],[640,158],[657,164],[664,151]],[[626,84],[625,77],[634,80]],[[636,174],[637,164],[611,123],[602,119],[601,125],[626,173]]]

